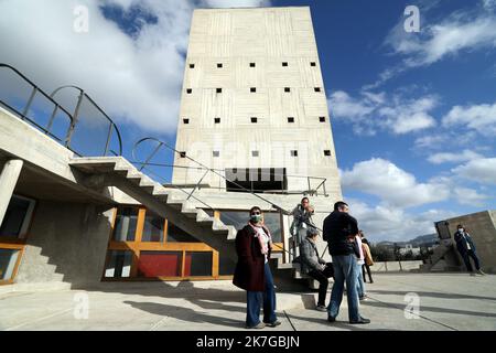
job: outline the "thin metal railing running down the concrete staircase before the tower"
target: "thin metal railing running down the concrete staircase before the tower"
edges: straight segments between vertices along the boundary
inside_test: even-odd
[[[137,158],[137,150],[138,150],[138,147],[139,147],[141,143],[145,142],[145,141],[154,141],[154,142],[157,142],[157,146],[155,146],[153,149],[151,149],[151,152],[147,156],[147,158],[145,158],[143,161],[138,161],[138,158]],[[195,163],[195,164],[198,165],[198,167],[184,167],[184,165],[181,167],[181,165],[174,165],[174,164],[163,164],[163,163],[153,163],[153,162],[151,162],[152,159],[158,154],[158,152],[159,152],[162,148],[166,148],[168,150],[172,151],[173,153],[177,153],[177,154],[182,156],[183,158],[185,158],[185,159],[192,161],[193,163]],[[188,169],[195,169],[195,170],[205,171],[205,172],[202,174],[202,176],[200,178],[200,180],[196,182],[196,184],[193,184],[192,188],[188,188],[188,189],[192,189],[192,191],[184,190],[185,188],[182,188],[182,185],[176,185],[176,184],[173,184],[172,182],[164,182],[163,184],[164,184],[165,186],[170,186],[170,188],[173,188],[173,189],[176,189],[176,190],[182,191],[183,193],[185,193],[185,194],[187,195],[187,196],[186,196],[186,200],[190,200],[191,197],[193,197],[194,200],[198,201],[200,203],[202,203],[203,205],[205,205],[207,208],[209,208],[209,210],[212,210],[212,211],[216,211],[216,210],[215,210],[214,207],[212,207],[211,205],[206,204],[204,201],[200,200],[198,197],[193,196],[193,193],[198,189],[198,185],[201,185],[201,182],[203,181],[203,179],[204,179],[208,173],[213,173],[213,174],[219,176],[220,179],[225,180],[226,182],[229,181],[230,183],[233,183],[234,185],[236,185],[236,186],[239,188],[240,190],[242,190],[242,191],[245,191],[245,192],[247,192],[247,193],[250,193],[251,195],[256,196],[257,199],[259,199],[259,200],[261,200],[261,201],[268,203],[272,208],[277,210],[278,212],[281,212],[281,213],[284,214],[284,215],[292,215],[292,212],[284,210],[283,207],[277,205],[277,204],[273,203],[272,201],[270,201],[270,200],[268,200],[268,199],[266,199],[266,197],[259,195],[258,193],[254,192],[252,190],[247,189],[247,188],[240,185],[240,184],[237,183],[235,180],[229,180],[228,178],[226,178],[225,174],[223,174],[223,170],[209,168],[209,167],[203,164],[202,162],[200,162],[200,161],[197,161],[197,160],[191,158],[190,156],[183,154],[181,151],[177,151],[175,148],[169,146],[166,142],[161,141],[161,140],[159,140],[159,139],[157,139],[157,138],[147,137],[147,138],[142,138],[142,139],[138,140],[138,141],[134,143],[133,148],[132,148],[131,154],[132,154],[132,158],[133,158],[133,160],[131,161],[131,163],[136,164],[137,168],[138,168],[138,170],[140,170],[140,171],[145,170],[147,173],[150,173],[151,175],[154,175],[155,178],[158,178],[159,180],[162,180],[162,181],[164,181],[164,176],[160,175],[160,174],[159,174],[158,172],[155,172],[155,171],[150,170],[149,167],[188,168]],[[324,182],[325,182],[325,180],[324,180]],[[312,226],[312,227],[319,229],[320,232],[322,232],[322,229],[319,228],[319,227],[316,227],[314,224],[310,224],[310,223],[306,223],[306,224],[308,224],[309,226]],[[278,247],[278,248],[280,248],[281,250],[288,253],[292,258],[294,258],[294,256],[293,256],[294,254],[293,254],[291,250],[284,249],[283,247],[280,247],[280,246],[278,246],[278,245],[276,245],[276,244],[274,244],[274,246]],[[326,249],[327,249],[327,247],[325,247],[325,249],[324,249],[322,256],[324,256],[324,253],[326,252]]]

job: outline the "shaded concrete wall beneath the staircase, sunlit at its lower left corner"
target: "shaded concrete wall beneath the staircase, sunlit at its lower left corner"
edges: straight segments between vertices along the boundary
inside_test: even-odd
[[[39,202],[15,284],[99,282],[111,216],[106,206]]]

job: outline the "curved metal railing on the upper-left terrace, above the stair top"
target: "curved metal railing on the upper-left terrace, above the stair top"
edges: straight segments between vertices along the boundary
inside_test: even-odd
[[[54,97],[69,87],[78,92],[73,113]],[[77,156],[122,154],[116,124],[79,87],[62,86],[48,95],[15,67],[0,63],[0,106]]]

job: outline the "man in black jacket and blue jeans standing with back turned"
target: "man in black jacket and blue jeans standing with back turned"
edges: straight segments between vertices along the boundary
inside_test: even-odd
[[[348,205],[338,201],[334,204],[334,211],[324,220],[323,238],[328,243],[328,253],[333,257],[335,279],[327,307],[327,321],[336,321],[346,281],[349,323],[369,323],[370,320],[358,312],[357,266],[353,249],[358,223],[348,212]]]

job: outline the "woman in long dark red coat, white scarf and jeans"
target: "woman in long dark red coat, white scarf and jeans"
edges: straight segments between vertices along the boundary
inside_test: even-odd
[[[263,223],[260,207],[250,210],[248,224],[236,235],[236,265],[233,284],[245,289],[247,301],[246,328],[263,329],[281,324],[276,317],[276,291],[269,258],[272,238]],[[263,322],[260,308],[263,306]]]

